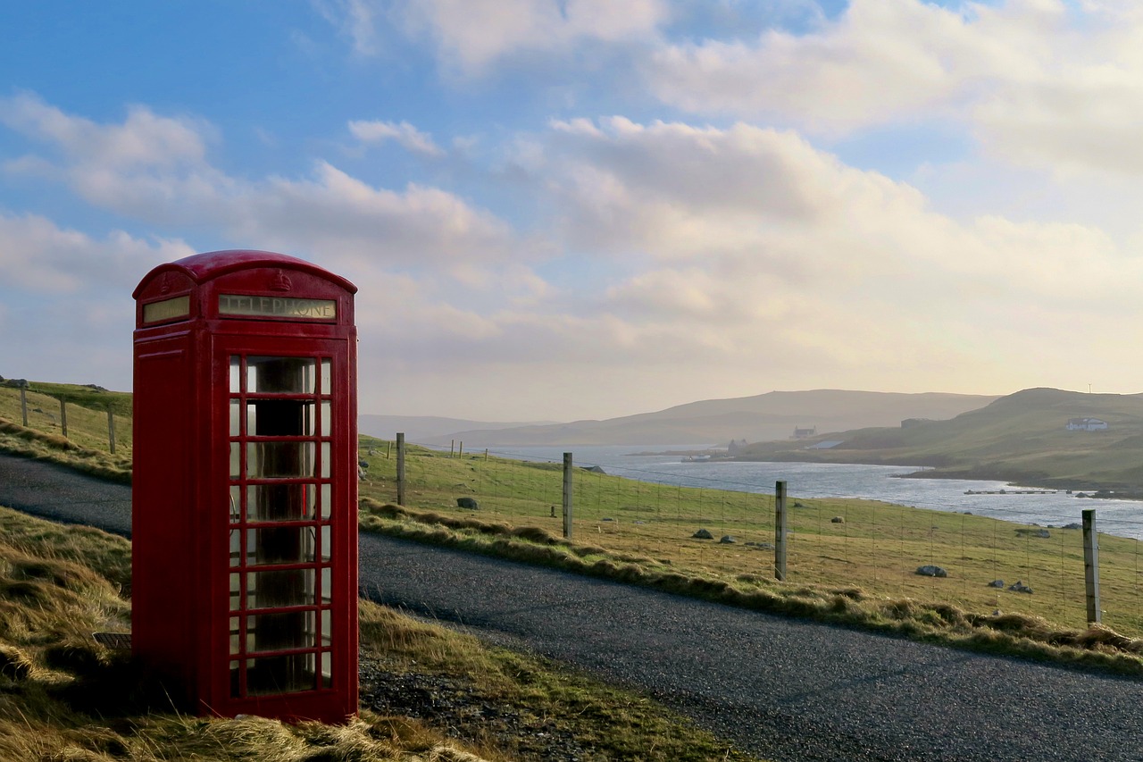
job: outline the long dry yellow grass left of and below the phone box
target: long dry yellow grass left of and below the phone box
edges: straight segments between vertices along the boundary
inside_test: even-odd
[[[0,508],[0,760],[480,762],[416,721],[365,712],[342,727],[174,712],[145,670],[97,644],[128,632],[117,577],[130,545]],[[503,759],[503,757],[501,757]]]

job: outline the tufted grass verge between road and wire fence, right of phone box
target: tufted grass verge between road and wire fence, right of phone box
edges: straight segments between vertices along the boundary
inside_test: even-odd
[[[860,627],[996,654],[1143,675],[1143,640],[1093,626],[1060,628],[1022,613],[974,613],[948,603],[874,596],[857,587],[792,586],[680,573],[662,561],[567,542],[539,527],[402,508],[363,499],[361,527],[390,537],[541,564],[728,605]]]

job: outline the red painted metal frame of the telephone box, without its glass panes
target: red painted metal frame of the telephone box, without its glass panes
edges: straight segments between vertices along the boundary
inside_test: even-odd
[[[173,696],[181,696],[202,714],[337,722],[358,711],[355,292],[353,284],[314,264],[253,251],[211,252],[161,264],[135,289],[133,650],[168,678]],[[219,294],[333,301],[336,318],[219,315]],[[185,315],[144,323],[147,304],[182,296],[187,297]],[[315,491],[329,485],[328,521],[319,513],[313,519],[273,525],[313,527],[319,548],[315,561],[242,567],[248,563],[248,530],[267,525],[251,522],[242,509],[237,521],[232,518],[231,486],[259,481],[246,471],[232,478],[230,449],[235,443],[245,453],[247,443],[257,445],[266,437],[250,435],[245,424],[232,435],[230,404],[240,400],[245,416],[241,405],[273,395],[232,392],[231,357],[313,358],[318,368],[321,358],[331,360],[333,388],[328,395],[319,389],[313,396],[315,411],[323,410],[322,402],[329,403],[328,435],[319,429],[307,438],[273,438],[312,440],[319,462],[322,442],[329,444],[328,477],[319,473],[299,479]],[[318,420],[321,415],[317,413]],[[245,493],[242,486],[240,494]],[[322,527],[328,527],[328,561],[321,555]],[[237,571],[231,567],[232,530],[241,538]],[[246,571],[299,567],[312,567],[315,581],[329,574],[328,606],[318,582],[312,604],[269,611],[313,612],[317,642],[313,648],[264,650],[257,656],[313,653],[314,686],[254,696],[246,691],[243,677],[233,690],[232,662],[250,657],[245,624],[239,628],[239,652],[233,653],[231,617],[245,621],[247,611],[231,612],[231,574],[245,580]],[[248,602],[245,593],[243,581],[240,596]],[[264,611],[250,610],[250,616]],[[323,611],[331,626],[328,643],[322,637]],[[317,682],[323,653],[330,657],[328,688]],[[238,674],[245,676],[246,669]]]

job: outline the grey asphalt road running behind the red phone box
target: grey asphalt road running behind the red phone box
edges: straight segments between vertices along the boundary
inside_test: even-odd
[[[0,503],[129,530],[130,491],[0,458]],[[645,690],[774,760],[1138,760],[1143,681],[741,611],[375,535],[361,588]]]

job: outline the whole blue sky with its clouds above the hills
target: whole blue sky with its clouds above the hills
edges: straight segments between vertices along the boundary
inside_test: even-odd
[[[1137,0],[0,3],[0,375],[131,292],[357,284],[362,413],[1143,391]]]

